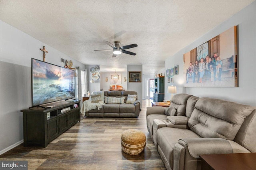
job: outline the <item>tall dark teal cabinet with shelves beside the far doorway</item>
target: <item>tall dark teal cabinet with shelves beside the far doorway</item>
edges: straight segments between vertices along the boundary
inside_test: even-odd
[[[155,92],[153,93],[153,101],[164,101],[164,76],[155,78]]]

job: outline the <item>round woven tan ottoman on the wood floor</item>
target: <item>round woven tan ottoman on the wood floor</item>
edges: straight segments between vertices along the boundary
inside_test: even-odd
[[[121,135],[121,145],[124,153],[138,155],[146,146],[146,136],[141,130],[124,130]]]

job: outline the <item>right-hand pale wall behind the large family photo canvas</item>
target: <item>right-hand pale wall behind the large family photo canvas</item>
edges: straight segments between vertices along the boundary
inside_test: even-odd
[[[210,40],[214,36],[238,26],[238,85],[239,87],[183,87],[184,63],[183,54],[198,45]],[[256,106],[256,2],[253,2],[226,22],[210,30],[195,42],[191,43],[165,61],[165,68],[179,65],[179,75],[174,75],[173,85],[177,86],[177,93],[188,93],[198,97],[214,97],[234,101],[245,105]],[[171,85],[167,83],[167,86]],[[166,89],[167,91],[167,89]],[[166,92],[165,91],[165,92]],[[170,98],[171,94],[165,93]],[[166,98],[166,99],[167,99]]]

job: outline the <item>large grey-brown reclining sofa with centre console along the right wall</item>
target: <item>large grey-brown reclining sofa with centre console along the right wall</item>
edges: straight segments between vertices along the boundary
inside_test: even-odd
[[[201,169],[199,155],[256,152],[256,109],[177,94],[170,107],[147,107],[147,128],[168,170]]]

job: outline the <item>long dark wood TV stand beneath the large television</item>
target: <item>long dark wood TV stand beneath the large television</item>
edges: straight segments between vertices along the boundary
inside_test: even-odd
[[[77,105],[75,107],[74,105]],[[24,146],[40,144],[46,147],[48,143],[80,121],[80,100],[57,101],[43,105],[54,105],[50,109],[32,107],[23,112]],[[62,109],[70,110],[61,113]],[[50,117],[47,118],[47,113]]]

